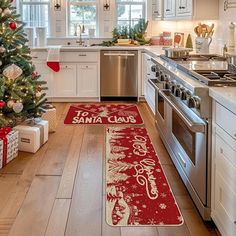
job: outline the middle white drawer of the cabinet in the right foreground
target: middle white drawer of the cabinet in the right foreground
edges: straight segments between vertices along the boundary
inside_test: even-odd
[[[224,131],[220,131],[220,128],[218,128],[218,130],[216,131],[216,169],[222,174],[222,176],[224,176],[226,182],[236,193],[236,142],[233,141],[230,143],[228,139],[227,141],[223,139],[223,132]]]

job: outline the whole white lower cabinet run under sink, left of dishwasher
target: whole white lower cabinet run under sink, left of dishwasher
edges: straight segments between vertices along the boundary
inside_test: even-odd
[[[59,72],[47,66],[47,54],[33,51],[31,56],[51,101],[99,101],[99,52],[61,52]]]

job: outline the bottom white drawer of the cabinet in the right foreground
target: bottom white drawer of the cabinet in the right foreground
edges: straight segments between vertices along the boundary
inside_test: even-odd
[[[220,221],[224,235],[236,235],[236,195],[216,171],[215,207],[213,215]]]

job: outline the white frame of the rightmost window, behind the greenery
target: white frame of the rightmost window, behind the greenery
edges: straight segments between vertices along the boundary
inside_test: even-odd
[[[143,5],[143,18],[146,20],[147,19],[147,0],[143,0],[142,2],[138,2],[138,1],[132,1],[132,0],[128,0],[128,1],[120,1],[120,0],[115,0],[116,1],[116,10],[115,10],[115,25],[116,27],[118,27],[118,22],[120,20],[118,20],[118,14],[117,14],[117,9],[118,9],[118,5]],[[130,15],[129,15],[129,20],[127,20],[127,22],[129,22],[129,27],[131,27],[131,23],[132,23],[132,18],[131,18],[131,9],[130,9]]]

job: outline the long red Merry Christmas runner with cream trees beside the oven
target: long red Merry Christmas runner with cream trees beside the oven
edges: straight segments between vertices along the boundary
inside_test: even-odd
[[[106,130],[106,220],[111,226],[183,224],[145,128]]]

